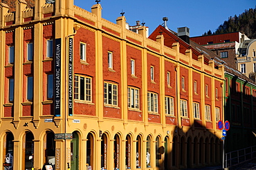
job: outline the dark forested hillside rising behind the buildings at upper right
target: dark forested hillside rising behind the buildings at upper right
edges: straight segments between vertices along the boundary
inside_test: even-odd
[[[219,25],[219,28],[215,32],[208,30],[203,35],[210,34],[222,34],[228,32],[243,32],[250,39],[256,39],[256,6],[245,10],[242,14],[229,17],[228,21],[224,21],[223,24]]]

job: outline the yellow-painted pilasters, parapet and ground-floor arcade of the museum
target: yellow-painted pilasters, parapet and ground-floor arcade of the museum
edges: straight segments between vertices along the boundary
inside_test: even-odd
[[[192,59],[192,50],[185,54],[179,52],[179,43],[172,48],[163,44],[165,37],[157,37],[157,41],[146,38],[146,28],[139,28],[138,34],[125,28],[125,17],[118,17],[116,23],[111,23],[101,17],[100,4],[92,6],[91,12],[73,5],[73,0],[56,0],[54,4],[43,0],[35,1],[34,9],[27,9],[26,2],[16,1],[17,10],[14,14],[8,13],[8,6],[0,5],[0,164],[6,163],[8,149],[13,156],[10,166],[13,169],[42,169],[48,160],[54,160],[55,169],[186,169],[188,167],[204,167],[221,163],[221,131],[217,129],[215,118],[215,82],[223,85],[223,65],[215,68],[213,61],[204,63],[204,56],[196,61]],[[48,16],[47,14],[51,14]],[[30,21],[26,19],[32,17]],[[10,24],[12,22],[12,24]],[[60,39],[62,50],[62,67],[60,69],[60,116],[44,114],[45,105],[51,105],[53,100],[44,100],[44,65],[53,59],[44,59],[44,26],[53,26],[53,39]],[[33,28],[33,100],[24,101],[26,85],[24,79],[24,30]],[[91,105],[95,107],[94,115],[68,115],[68,39],[76,38],[80,29],[93,32],[95,39],[95,95]],[[6,62],[8,45],[6,34],[14,32],[15,63]],[[120,44],[120,85],[118,95],[118,111],[121,118],[104,116],[104,38]],[[10,45],[9,45],[10,46]],[[74,46],[75,47],[75,46]],[[127,61],[127,47],[133,47],[141,52],[141,84],[140,110],[142,120],[131,120],[128,116],[129,108],[127,88],[129,84],[127,70],[130,63]],[[79,50],[79,47],[73,51]],[[148,113],[148,58],[154,56],[159,60],[159,94],[158,113]],[[173,56],[170,57],[170,56]],[[165,114],[165,62],[175,67],[176,88],[175,115]],[[89,63],[90,65],[90,63]],[[75,66],[75,64],[74,64]],[[6,76],[12,68],[12,76]],[[188,116],[180,116],[181,99],[181,69],[188,70]],[[202,127],[194,125],[193,107],[193,73],[201,77],[200,94],[205,96],[205,77],[210,78],[210,98],[212,120],[205,120],[205,98],[201,98]],[[73,73],[73,77],[76,73]],[[84,73],[85,74],[85,73]],[[26,76],[26,75],[25,75]],[[10,96],[5,91],[10,90],[8,80],[14,77],[14,100],[8,102]],[[150,81],[150,80],[149,80]],[[7,83],[6,83],[7,82]],[[24,89],[25,88],[25,89]],[[222,92],[222,86],[221,92]],[[9,96],[8,96],[9,95]],[[223,95],[221,95],[221,120],[223,120]],[[73,101],[73,103],[75,103]],[[29,116],[24,116],[24,107],[32,105]],[[84,104],[86,105],[86,104]],[[12,108],[10,111],[8,110]],[[160,123],[150,121],[158,116]],[[173,118],[176,123],[167,123],[167,118]],[[183,122],[188,125],[183,125]],[[208,128],[211,123],[212,128]],[[72,134],[73,139],[56,138],[56,134]],[[55,136],[55,138],[53,138]],[[8,146],[8,142],[13,145]],[[49,144],[53,142],[54,144]],[[149,142],[150,141],[150,142]],[[30,145],[30,149],[28,149]],[[90,146],[90,147],[89,147]],[[52,148],[54,147],[54,148]],[[77,150],[75,150],[77,148]],[[26,153],[30,151],[30,155]],[[50,154],[50,151],[54,153]],[[89,153],[90,152],[90,153]],[[51,156],[50,156],[51,155]],[[147,161],[146,161],[147,158]],[[89,167],[90,166],[90,167]],[[2,168],[4,169],[4,168]]]

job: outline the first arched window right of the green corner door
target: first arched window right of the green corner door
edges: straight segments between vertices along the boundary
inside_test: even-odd
[[[93,169],[93,134],[89,133],[86,139],[86,166]]]

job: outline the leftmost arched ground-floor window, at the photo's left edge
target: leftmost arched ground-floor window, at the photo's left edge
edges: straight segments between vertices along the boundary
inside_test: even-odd
[[[13,167],[13,140],[14,137],[12,133],[6,132],[6,145],[3,145],[3,158],[5,158],[4,167],[6,167],[6,169],[12,169]]]

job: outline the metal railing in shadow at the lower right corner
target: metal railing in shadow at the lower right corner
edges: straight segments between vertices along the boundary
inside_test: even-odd
[[[233,167],[237,164],[244,163],[249,160],[256,158],[256,145],[253,147],[246,147],[237,151],[230,151],[226,153],[225,165],[226,168]]]

